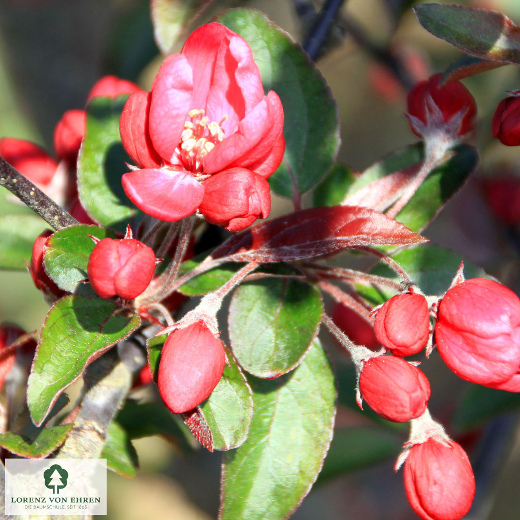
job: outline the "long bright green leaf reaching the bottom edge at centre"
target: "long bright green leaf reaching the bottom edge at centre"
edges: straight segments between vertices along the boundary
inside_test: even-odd
[[[315,340],[301,365],[276,380],[251,378],[253,421],[224,455],[221,520],[281,520],[300,505],[329,448],[335,388]]]

